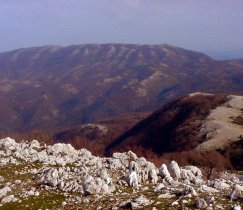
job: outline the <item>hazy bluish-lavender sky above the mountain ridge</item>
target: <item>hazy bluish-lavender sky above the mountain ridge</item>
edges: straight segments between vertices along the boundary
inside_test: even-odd
[[[0,0],[0,52],[86,43],[243,58],[243,0]]]

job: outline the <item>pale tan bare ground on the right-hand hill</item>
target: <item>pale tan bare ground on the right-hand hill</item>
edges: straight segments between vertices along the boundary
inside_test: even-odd
[[[207,95],[207,93],[195,94]],[[243,97],[229,95],[227,98],[226,103],[211,110],[209,116],[205,119],[201,134],[206,134],[207,139],[197,146],[198,151],[224,149],[242,138],[243,126],[235,123],[234,120],[243,116]]]

